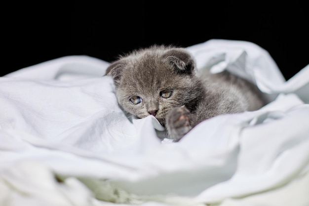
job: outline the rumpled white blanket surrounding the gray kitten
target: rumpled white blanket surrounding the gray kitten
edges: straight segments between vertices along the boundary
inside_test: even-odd
[[[0,205],[308,206],[309,65],[285,81],[251,42],[188,50],[198,69],[228,69],[270,103],[174,143],[154,117],[124,115],[108,62],[66,56],[1,77]]]

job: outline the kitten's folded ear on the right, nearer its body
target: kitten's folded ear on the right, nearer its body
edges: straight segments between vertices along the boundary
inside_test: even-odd
[[[173,48],[163,55],[165,61],[172,64],[177,73],[192,74],[195,62],[191,54],[183,48]]]

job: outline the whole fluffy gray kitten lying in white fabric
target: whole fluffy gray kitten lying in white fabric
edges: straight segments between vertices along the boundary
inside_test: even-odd
[[[136,118],[153,115],[175,141],[204,120],[266,104],[254,84],[227,71],[197,71],[192,55],[174,46],[154,45],[120,56],[106,75],[113,77],[124,111]]]

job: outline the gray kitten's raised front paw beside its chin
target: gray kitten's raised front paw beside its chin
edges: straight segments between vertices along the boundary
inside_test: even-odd
[[[171,139],[179,141],[192,129],[190,124],[190,111],[185,107],[171,109],[166,116],[166,128]]]

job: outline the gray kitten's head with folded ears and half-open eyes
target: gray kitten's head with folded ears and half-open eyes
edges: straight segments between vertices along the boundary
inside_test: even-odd
[[[184,48],[135,50],[113,62],[106,75],[114,79],[123,110],[137,118],[153,115],[162,125],[171,108],[186,105],[192,110],[202,93],[194,60]]]

